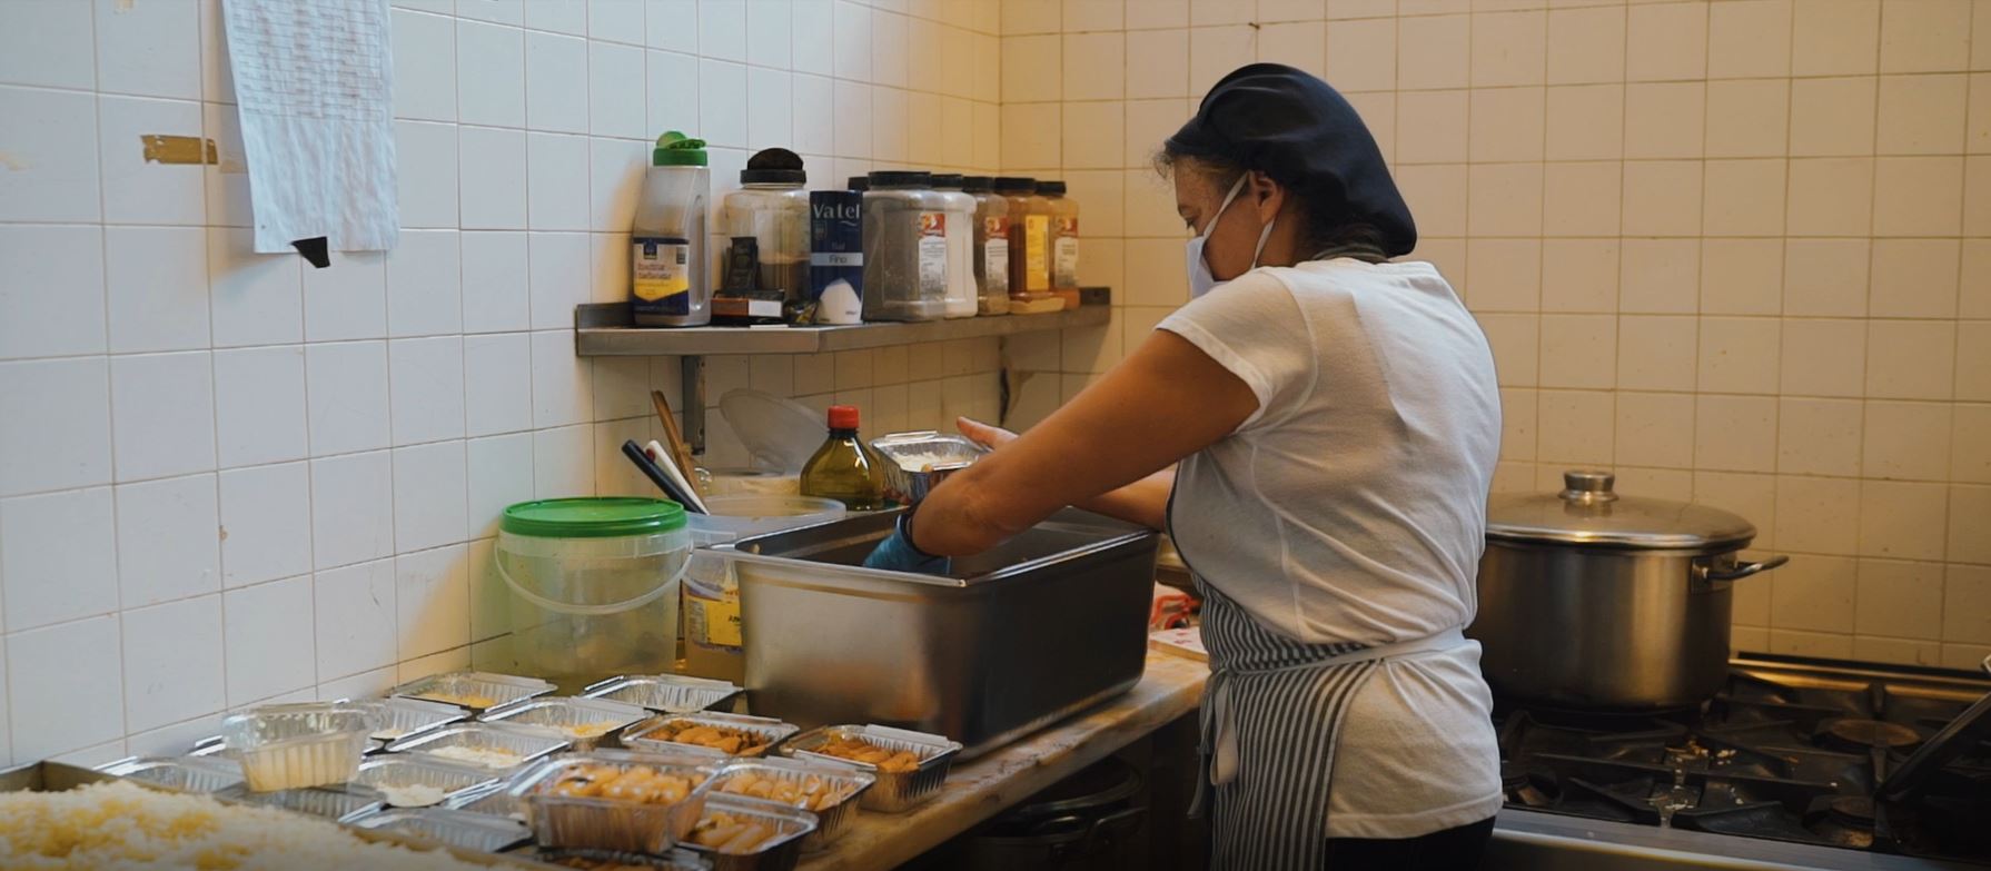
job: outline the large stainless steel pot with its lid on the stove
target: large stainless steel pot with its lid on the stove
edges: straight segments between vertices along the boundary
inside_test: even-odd
[[[1465,634],[1495,696],[1653,710],[1698,706],[1728,678],[1730,584],[1788,558],[1740,562],[1748,520],[1613,482],[1563,472],[1563,492],[1489,500]]]

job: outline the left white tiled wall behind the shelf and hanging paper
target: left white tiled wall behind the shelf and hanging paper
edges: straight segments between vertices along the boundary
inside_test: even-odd
[[[175,749],[506,630],[498,510],[651,492],[675,359],[575,359],[621,299],[649,140],[814,185],[992,169],[994,0],[394,0],[400,247],[249,253],[217,0],[0,2],[0,761]],[[205,136],[217,165],[141,157]],[[711,357],[866,431],[997,413],[999,347]],[[715,466],[745,464],[711,417]]]

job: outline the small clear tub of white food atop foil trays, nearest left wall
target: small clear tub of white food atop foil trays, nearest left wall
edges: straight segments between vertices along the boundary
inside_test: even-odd
[[[344,783],[360,767],[380,720],[346,704],[263,706],[221,722],[249,789],[265,793]]]

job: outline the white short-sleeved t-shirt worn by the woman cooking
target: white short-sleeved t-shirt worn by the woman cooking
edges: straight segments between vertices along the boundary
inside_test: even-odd
[[[1191,568],[1280,636],[1386,646],[1477,608],[1499,389],[1485,335],[1430,263],[1254,269],[1159,329],[1258,397],[1183,460]],[[1416,837],[1501,805],[1479,646],[1390,660],[1336,747],[1328,837]]]

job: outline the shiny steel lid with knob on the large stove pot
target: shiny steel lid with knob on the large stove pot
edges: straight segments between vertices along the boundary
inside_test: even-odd
[[[1615,482],[1611,472],[1569,470],[1563,492],[1495,494],[1487,500],[1487,538],[1647,550],[1734,550],[1756,538],[1756,526],[1726,510],[1619,496]]]

